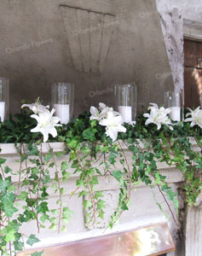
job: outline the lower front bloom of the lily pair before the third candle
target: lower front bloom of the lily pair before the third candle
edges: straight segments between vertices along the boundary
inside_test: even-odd
[[[101,119],[99,125],[107,126],[107,137],[111,137],[113,142],[118,137],[118,131],[126,132],[126,128],[123,126],[124,119],[120,115],[114,115],[112,111],[107,112],[107,118]]]

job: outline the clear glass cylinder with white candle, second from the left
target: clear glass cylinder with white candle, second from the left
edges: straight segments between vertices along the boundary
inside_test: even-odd
[[[53,84],[52,102],[55,115],[61,119],[61,124],[68,124],[73,117],[74,84]]]

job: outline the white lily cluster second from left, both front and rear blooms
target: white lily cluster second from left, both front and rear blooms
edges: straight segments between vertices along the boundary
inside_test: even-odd
[[[111,137],[113,142],[116,141],[118,132],[126,132],[123,126],[124,119],[120,113],[113,111],[113,108],[108,108],[106,104],[99,103],[99,109],[91,107],[89,112],[91,113],[90,120],[98,120],[99,125],[106,126],[107,137]]]

